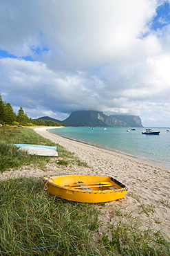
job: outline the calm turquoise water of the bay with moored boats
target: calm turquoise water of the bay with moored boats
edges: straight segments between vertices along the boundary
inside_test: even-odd
[[[170,131],[167,131],[169,128],[153,128],[160,131],[160,135],[142,134],[145,128],[136,128],[135,131],[129,127],[107,127],[107,130],[103,128],[64,127],[50,129],[50,132],[170,167]]]

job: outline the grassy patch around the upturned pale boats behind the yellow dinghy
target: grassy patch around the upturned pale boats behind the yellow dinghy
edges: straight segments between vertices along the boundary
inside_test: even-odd
[[[17,147],[11,144],[38,144],[47,146],[57,146],[59,158],[47,156],[32,156],[26,152],[18,151]],[[74,153],[68,152],[58,144],[43,138],[33,129],[25,127],[0,127],[0,172],[16,168],[21,165],[38,164],[45,167],[46,163],[54,162],[59,165],[76,164],[87,167],[87,163],[80,161]]]

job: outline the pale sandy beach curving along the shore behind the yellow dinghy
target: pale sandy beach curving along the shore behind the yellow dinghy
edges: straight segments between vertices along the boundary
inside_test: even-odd
[[[52,140],[70,152],[74,152],[81,161],[89,167],[59,167],[47,164],[40,167],[23,166],[19,170],[11,170],[0,174],[0,179],[18,176],[53,176],[60,174],[93,174],[112,176],[127,185],[128,192],[124,199],[105,203],[102,208],[101,221],[109,221],[115,207],[143,221],[144,228],[161,230],[170,238],[170,170],[153,165],[137,158],[132,158],[117,152],[107,151],[74,140],[62,138],[50,133],[47,129],[55,127],[36,128],[37,134]],[[127,221],[124,219],[124,221]],[[102,228],[101,228],[102,232]]]

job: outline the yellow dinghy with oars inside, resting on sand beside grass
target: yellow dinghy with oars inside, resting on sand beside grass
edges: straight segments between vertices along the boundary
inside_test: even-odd
[[[67,175],[43,178],[45,190],[54,196],[83,203],[121,199],[127,187],[109,176]]]

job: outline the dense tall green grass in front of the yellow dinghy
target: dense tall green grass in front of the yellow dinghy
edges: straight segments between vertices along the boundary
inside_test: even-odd
[[[100,255],[95,205],[50,196],[34,178],[1,181],[0,205],[0,255]]]

